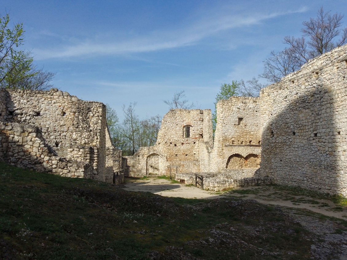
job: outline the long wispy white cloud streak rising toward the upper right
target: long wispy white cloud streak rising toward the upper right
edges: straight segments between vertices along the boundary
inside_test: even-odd
[[[195,45],[202,39],[217,33],[251,26],[264,20],[291,13],[304,12],[306,8],[294,11],[273,12],[257,15],[233,15],[204,17],[186,26],[171,31],[154,31],[147,36],[133,38],[125,41],[99,42],[84,40],[70,46],[56,47],[53,49],[35,49],[35,59],[86,57],[93,55],[120,55],[131,53],[154,52],[166,49]]]

